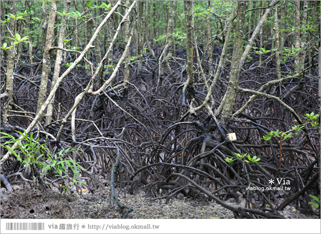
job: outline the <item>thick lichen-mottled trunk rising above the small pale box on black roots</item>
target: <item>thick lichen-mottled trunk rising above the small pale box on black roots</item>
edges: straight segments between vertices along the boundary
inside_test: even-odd
[[[233,106],[235,104],[235,98],[237,94],[237,83],[238,76],[240,73],[240,59],[242,56],[242,45],[244,38],[244,24],[245,24],[245,13],[246,13],[247,4],[245,1],[238,1],[237,3],[237,17],[235,25],[235,38],[233,46],[233,54],[231,61],[231,71],[227,91],[223,98],[224,108],[222,110],[221,122],[223,125],[227,125],[230,120],[233,112]],[[222,105],[222,104],[221,104]]]

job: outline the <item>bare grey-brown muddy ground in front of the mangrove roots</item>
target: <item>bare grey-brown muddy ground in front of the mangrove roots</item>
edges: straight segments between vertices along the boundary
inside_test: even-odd
[[[0,218],[121,218],[121,209],[110,204],[109,189],[96,194],[84,191],[83,195],[60,194],[52,190],[35,190],[14,186],[14,192],[1,188]],[[117,191],[119,192],[119,191]],[[127,218],[234,218],[231,211],[213,201],[195,201],[183,195],[166,204],[165,199],[153,200],[142,191],[134,195],[120,195],[120,200],[134,211]],[[240,204],[228,201],[234,206]],[[305,216],[294,207],[282,212],[286,218],[318,218]]]

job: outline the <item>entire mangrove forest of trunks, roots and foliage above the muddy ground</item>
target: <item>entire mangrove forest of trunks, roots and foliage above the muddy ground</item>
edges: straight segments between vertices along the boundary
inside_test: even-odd
[[[213,200],[235,218],[282,218],[291,203],[315,214],[320,1],[0,7],[8,190],[108,188],[124,217],[135,209],[117,194],[138,190]]]

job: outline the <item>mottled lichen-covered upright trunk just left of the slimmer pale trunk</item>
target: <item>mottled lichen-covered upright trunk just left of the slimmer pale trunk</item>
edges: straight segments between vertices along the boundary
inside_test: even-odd
[[[46,43],[45,43],[45,50],[43,52],[42,57],[42,73],[41,73],[41,81],[40,81],[40,88],[39,88],[39,97],[38,97],[38,104],[37,104],[37,113],[40,110],[40,107],[46,100],[47,96],[47,86],[48,86],[48,77],[51,71],[50,66],[50,47],[54,40],[54,21],[56,17],[56,10],[57,10],[57,2],[52,1],[51,3],[51,11],[49,14],[48,20],[48,27],[47,27],[47,36],[46,36]],[[40,117],[40,122],[43,116]]]

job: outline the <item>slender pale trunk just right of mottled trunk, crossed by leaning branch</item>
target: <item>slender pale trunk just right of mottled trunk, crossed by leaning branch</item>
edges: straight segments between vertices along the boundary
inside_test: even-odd
[[[68,13],[70,3],[71,3],[71,1],[64,1],[64,11],[66,13]],[[63,17],[61,20],[61,27],[60,27],[59,41],[58,41],[58,47],[60,47],[60,48],[64,47],[64,40],[63,39],[65,39],[65,32],[66,32],[66,18]],[[60,65],[62,62],[62,54],[63,54],[62,50],[57,51],[56,61],[54,64],[54,76],[52,79],[50,91],[53,90],[53,87],[56,84],[57,79],[60,75]],[[48,107],[47,107],[47,116],[46,116],[46,124],[47,125],[49,125],[52,121],[53,109],[54,109],[54,98],[51,99],[51,101],[49,102]]]

